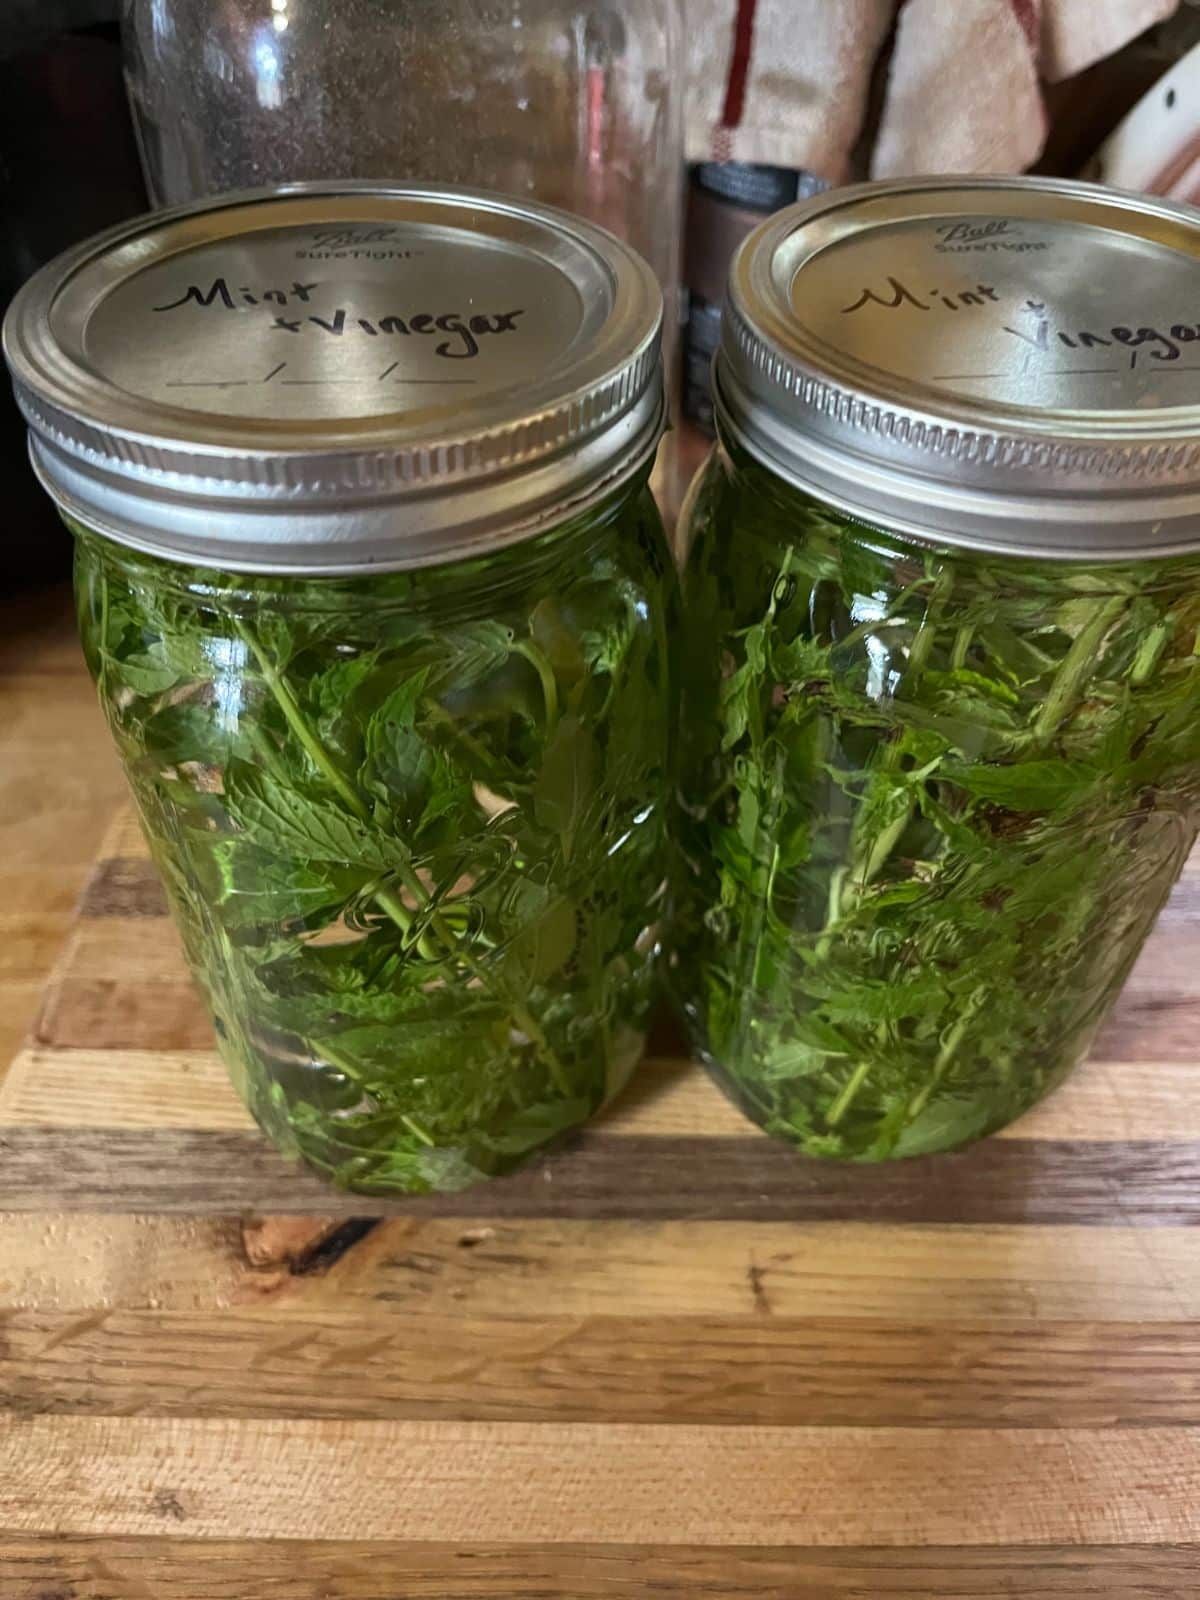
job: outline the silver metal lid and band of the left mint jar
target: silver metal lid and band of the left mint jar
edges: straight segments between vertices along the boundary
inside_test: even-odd
[[[662,299],[603,229],[499,195],[296,184],[138,218],[5,318],[34,466],[125,544],[238,571],[526,538],[662,432]]]

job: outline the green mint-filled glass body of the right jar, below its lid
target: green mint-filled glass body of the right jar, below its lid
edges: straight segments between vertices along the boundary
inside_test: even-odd
[[[693,534],[699,1053],[808,1155],[1005,1126],[1085,1053],[1195,838],[1200,558],[934,552],[722,456]]]

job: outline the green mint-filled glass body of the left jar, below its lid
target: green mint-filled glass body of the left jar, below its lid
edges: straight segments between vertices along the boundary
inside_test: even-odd
[[[80,629],[230,1070],[355,1189],[586,1122],[653,994],[674,568],[648,491],[531,550],[222,578],[77,528]]]

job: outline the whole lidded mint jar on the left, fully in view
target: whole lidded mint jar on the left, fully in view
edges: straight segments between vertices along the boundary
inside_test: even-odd
[[[371,186],[126,224],[10,314],[219,1048],[341,1186],[504,1171],[638,1059],[674,723],[659,328],[589,224]]]

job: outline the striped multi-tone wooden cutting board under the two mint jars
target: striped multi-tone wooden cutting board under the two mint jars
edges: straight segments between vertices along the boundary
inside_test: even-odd
[[[794,1157],[664,1038],[379,1206],[226,1083],[122,818],[0,1080],[3,1600],[1200,1592],[1200,859],[1008,1134]]]

